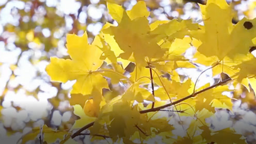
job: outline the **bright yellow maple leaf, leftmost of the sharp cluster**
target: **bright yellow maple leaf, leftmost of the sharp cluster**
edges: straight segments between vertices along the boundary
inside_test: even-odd
[[[86,33],[82,37],[68,34],[67,48],[72,60],[52,57],[51,63],[46,66],[45,70],[52,81],[65,83],[68,80],[76,80],[72,94],[90,94],[94,86],[97,86],[100,92],[102,88],[108,88],[103,76],[95,73],[103,63],[103,60],[99,59],[102,51],[88,44]]]

